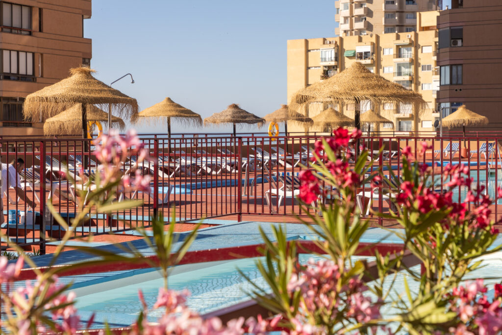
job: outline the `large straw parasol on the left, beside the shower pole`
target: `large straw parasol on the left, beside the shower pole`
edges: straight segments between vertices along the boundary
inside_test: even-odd
[[[87,136],[87,106],[111,104],[115,114],[134,120],[138,115],[136,99],[111,88],[92,76],[94,70],[87,67],[70,69],[71,75],[55,84],[29,94],[23,104],[25,119],[47,119],[81,103],[82,137]]]

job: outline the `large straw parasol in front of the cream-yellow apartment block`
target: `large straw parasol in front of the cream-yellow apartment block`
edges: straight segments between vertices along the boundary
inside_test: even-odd
[[[354,62],[339,74],[299,90],[293,95],[290,105],[298,110],[315,101],[354,103],[354,123],[360,128],[359,102],[363,100],[376,105],[385,102],[411,102],[418,107],[426,106],[420,93],[370,72],[360,62]]]

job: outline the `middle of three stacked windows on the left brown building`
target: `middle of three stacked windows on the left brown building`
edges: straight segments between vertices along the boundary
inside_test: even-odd
[[[35,81],[32,52],[2,50],[0,64],[0,79]]]

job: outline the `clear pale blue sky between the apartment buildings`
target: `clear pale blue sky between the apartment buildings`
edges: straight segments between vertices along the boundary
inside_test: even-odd
[[[134,84],[123,78],[113,87],[140,110],[169,96],[202,118],[231,103],[263,117],[287,103],[287,40],[335,36],[334,15],[333,0],[95,0],[84,37],[92,39],[96,78],[110,84],[133,75]],[[172,126],[173,133],[230,130]]]

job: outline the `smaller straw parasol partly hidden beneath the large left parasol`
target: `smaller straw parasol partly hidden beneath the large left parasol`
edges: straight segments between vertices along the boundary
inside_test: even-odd
[[[102,111],[94,105],[87,106],[87,121],[108,122],[108,113]],[[122,119],[111,117],[111,122],[120,129],[126,127]],[[44,123],[45,135],[73,135],[82,130],[82,106],[75,103],[71,108],[66,109],[55,117],[49,118]]]

